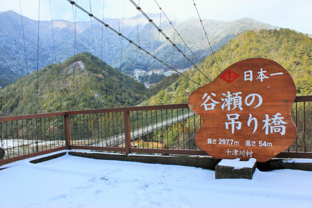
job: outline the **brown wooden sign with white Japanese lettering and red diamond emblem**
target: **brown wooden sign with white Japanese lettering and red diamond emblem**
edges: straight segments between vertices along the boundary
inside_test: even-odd
[[[188,106],[203,120],[195,141],[214,158],[266,162],[295,141],[295,97],[294,81],[275,61],[239,61],[190,94]]]

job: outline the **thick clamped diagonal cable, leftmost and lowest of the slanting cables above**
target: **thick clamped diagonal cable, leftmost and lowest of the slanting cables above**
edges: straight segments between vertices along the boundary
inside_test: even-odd
[[[70,2],[72,5],[75,5],[76,7],[78,7],[80,10],[82,10],[83,12],[85,12],[86,14],[90,14],[88,11],[86,11],[84,8],[80,7],[79,5],[77,5],[74,1],[71,0],[67,0],[68,2]],[[94,15],[92,15],[92,17],[94,19],[96,19],[98,22],[100,22],[101,24],[103,24],[105,27],[109,28],[111,31],[115,32],[116,34],[118,34],[119,36],[123,37],[124,39],[126,39],[127,41],[129,41],[131,44],[133,44],[134,46],[138,47],[140,50],[144,51],[146,54],[148,54],[149,56],[152,56],[154,59],[158,60],[160,63],[162,63],[163,65],[169,67],[170,69],[174,70],[175,72],[177,72],[178,74],[182,75],[183,77],[185,77],[186,79],[194,82],[197,85],[200,85],[199,83],[195,82],[194,80],[186,77],[185,75],[183,75],[181,72],[173,69],[173,67],[169,66],[168,64],[164,63],[162,60],[158,59],[156,56],[152,55],[151,53],[149,53],[148,51],[146,51],[145,49],[143,49],[141,46],[137,45],[136,43],[134,43],[133,41],[131,41],[129,38],[127,38],[126,36],[122,35],[121,33],[119,33],[118,31],[116,31],[114,28],[110,27],[108,24],[106,24],[105,22],[101,21],[99,18],[95,17]]]

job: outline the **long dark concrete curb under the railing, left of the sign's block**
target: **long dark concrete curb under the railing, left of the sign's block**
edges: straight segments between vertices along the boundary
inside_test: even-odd
[[[163,165],[182,165],[190,167],[199,167],[203,169],[214,170],[220,160],[212,157],[190,157],[190,156],[148,156],[148,155],[119,155],[103,153],[86,152],[68,152],[69,155],[78,157],[87,157],[100,160],[120,160],[129,162],[143,162]]]

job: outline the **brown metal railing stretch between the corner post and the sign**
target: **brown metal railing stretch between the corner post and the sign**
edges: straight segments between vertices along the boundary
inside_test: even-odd
[[[70,149],[207,155],[195,144],[194,135],[201,122],[188,104],[69,111],[67,114]]]

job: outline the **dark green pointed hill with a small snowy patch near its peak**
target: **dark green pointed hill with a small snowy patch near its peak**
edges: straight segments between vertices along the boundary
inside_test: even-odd
[[[143,84],[84,52],[1,89],[0,115],[133,106],[145,94]]]

